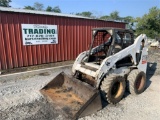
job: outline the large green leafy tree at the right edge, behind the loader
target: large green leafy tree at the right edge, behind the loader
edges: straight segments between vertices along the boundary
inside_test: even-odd
[[[155,38],[160,37],[160,9],[152,7],[148,14],[145,14],[142,18],[137,18],[136,33],[146,34],[148,37]]]

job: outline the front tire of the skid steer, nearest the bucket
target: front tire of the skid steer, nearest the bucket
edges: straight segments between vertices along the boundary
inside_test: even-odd
[[[102,81],[101,93],[108,103],[118,103],[125,92],[126,82],[121,76],[109,75]]]

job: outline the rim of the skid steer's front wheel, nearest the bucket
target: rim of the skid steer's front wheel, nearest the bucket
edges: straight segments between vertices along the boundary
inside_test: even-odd
[[[122,93],[122,88],[123,88],[123,86],[122,86],[121,82],[114,83],[114,85],[111,89],[112,98],[118,98]]]

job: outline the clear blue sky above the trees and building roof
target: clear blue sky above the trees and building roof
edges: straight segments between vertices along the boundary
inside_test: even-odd
[[[59,6],[62,13],[66,14],[90,11],[97,17],[113,11],[118,11],[121,17],[142,17],[150,8],[160,8],[160,0],[12,0],[10,5],[23,8],[33,6],[35,2],[43,4],[44,8]]]

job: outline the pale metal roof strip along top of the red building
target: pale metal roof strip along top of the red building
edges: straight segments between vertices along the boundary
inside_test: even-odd
[[[19,8],[8,8],[8,7],[0,7],[0,11],[99,20],[99,19],[83,17],[83,16],[78,16],[78,15],[72,15],[72,14],[63,14],[63,13],[37,11],[37,10],[27,10],[27,9],[19,9]],[[119,21],[111,21],[111,20],[102,20],[102,21],[119,22]],[[125,23],[125,22],[120,22],[120,23]]]

